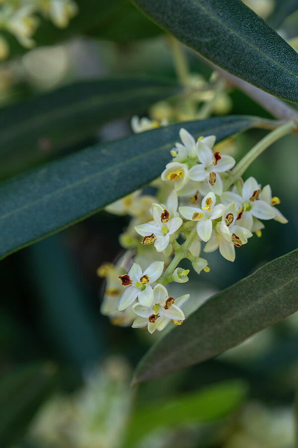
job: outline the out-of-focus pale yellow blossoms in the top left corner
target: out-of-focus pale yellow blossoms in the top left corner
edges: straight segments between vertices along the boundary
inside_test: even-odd
[[[25,48],[32,48],[35,44],[33,35],[39,25],[37,14],[50,19],[59,28],[65,28],[77,10],[73,0],[2,0],[0,29],[13,34]],[[5,59],[8,53],[8,43],[0,35],[0,59]]]

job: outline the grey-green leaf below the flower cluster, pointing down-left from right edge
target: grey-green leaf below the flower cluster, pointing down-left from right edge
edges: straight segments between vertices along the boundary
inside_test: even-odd
[[[135,382],[205,361],[298,310],[298,249],[207,300],[180,328],[159,339]]]

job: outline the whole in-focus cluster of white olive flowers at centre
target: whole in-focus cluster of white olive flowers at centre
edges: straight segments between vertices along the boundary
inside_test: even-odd
[[[261,188],[253,177],[230,185],[235,160],[214,148],[214,135],[195,140],[181,128],[180,138],[171,150],[172,161],[152,184],[155,197],[136,192],[107,208],[129,213],[133,219],[120,237],[130,253],[130,269],[122,264],[117,283],[115,267],[110,268],[102,312],[114,323],[123,314],[120,325],[129,322],[133,328],[147,327],[150,333],[185,319],[181,307],[189,294],[174,298],[165,288],[170,282],[188,281],[189,270],[177,267],[182,259],[190,260],[197,273],[209,272],[208,261],[200,257],[202,244],[204,252],[219,248],[226,260],[234,261],[237,248],[253,233],[261,236],[263,221],[287,223],[269,185]],[[109,295],[114,295],[113,301]]]

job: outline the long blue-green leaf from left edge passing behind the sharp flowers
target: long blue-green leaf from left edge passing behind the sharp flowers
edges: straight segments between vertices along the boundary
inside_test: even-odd
[[[218,141],[267,120],[227,116],[183,123]],[[0,258],[58,232],[160,175],[181,123],[98,144],[0,184]]]

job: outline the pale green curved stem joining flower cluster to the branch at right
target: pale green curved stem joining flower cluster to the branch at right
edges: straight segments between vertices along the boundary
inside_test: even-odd
[[[285,124],[269,132],[262,140],[260,140],[247,154],[237,163],[237,165],[232,169],[229,177],[224,181],[224,191],[227,190],[232,184],[235,183],[244,171],[249,167],[249,165],[260,155],[265,149],[268,148],[272,143],[279,140],[284,135],[291,133],[297,128],[294,120],[288,121]]]

